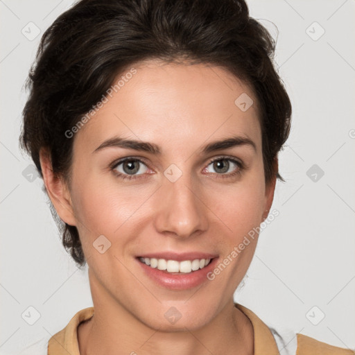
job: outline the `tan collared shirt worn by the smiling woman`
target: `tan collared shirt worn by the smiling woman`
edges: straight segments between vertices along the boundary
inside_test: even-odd
[[[252,322],[254,328],[254,355],[279,355],[277,342],[268,326],[250,309],[241,304],[235,306]],[[67,326],[54,334],[48,342],[47,355],[80,355],[78,346],[78,325],[94,315],[94,307],[78,311]],[[334,347],[309,336],[297,334],[295,355],[354,355],[355,351]]]

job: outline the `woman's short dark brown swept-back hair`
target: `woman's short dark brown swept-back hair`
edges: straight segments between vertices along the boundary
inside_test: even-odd
[[[266,184],[288,138],[291,102],[272,64],[275,40],[249,17],[243,0],[82,0],[42,36],[26,87],[20,147],[43,178],[40,148],[53,173],[70,186],[73,139],[64,134],[95,105],[118,73],[142,60],[188,59],[223,67],[250,85],[260,107]],[[75,138],[75,137],[74,137]],[[64,248],[78,266],[85,257],[78,230],[52,214]]]

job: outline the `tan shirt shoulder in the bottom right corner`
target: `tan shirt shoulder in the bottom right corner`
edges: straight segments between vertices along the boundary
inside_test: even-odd
[[[310,336],[297,333],[296,355],[355,355],[355,351],[343,347],[334,347]]]

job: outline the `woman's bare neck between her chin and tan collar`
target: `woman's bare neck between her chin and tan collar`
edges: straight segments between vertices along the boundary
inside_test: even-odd
[[[168,332],[144,324],[110,297],[94,297],[95,291],[94,316],[78,327],[80,355],[254,354],[252,323],[233,299],[203,327]]]

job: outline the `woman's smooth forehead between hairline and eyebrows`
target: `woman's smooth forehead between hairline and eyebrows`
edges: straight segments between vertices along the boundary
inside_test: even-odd
[[[74,145],[85,142],[94,150],[107,138],[125,135],[178,147],[231,131],[259,144],[257,99],[221,67],[146,60],[121,72],[106,98],[76,133]]]

